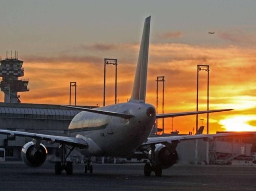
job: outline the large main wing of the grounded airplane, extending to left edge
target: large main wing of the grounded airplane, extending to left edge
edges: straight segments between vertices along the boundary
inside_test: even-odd
[[[65,144],[76,145],[76,146],[88,146],[86,141],[76,137],[54,136],[54,135],[45,135],[45,134],[39,134],[39,133],[9,131],[9,130],[1,130],[1,129],[0,129],[0,134],[19,136],[19,137],[31,137],[34,139],[51,141],[52,143],[57,142],[57,143],[65,143]]]

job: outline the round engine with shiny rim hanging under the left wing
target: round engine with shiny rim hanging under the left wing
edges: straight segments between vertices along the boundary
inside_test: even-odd
[[[21,158],[30,167],[41,166],[45,162],[46,156],[47,149],[42,143],[36,149],[35,143],[31,141],[26,143],[21,149]]]

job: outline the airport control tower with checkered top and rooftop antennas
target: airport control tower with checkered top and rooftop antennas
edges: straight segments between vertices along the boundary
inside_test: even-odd
[[[0,61],[0,82],[1,91],[4,92],[4,102],[20,103],[18,92],[29,91],[29,80],[21,79],[24,76],[23,61],[18,60],[18,55],[15,52],[15,58],[8,58],[6,53],[5,60]]]

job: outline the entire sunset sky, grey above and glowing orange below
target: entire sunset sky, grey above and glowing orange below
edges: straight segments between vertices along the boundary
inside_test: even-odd
[[[156,76],[164,75],[165,113],[195,111],[197,64],[210,65],[209,108],[234,109],[210,114],[210,133],[256,130],[254,1],[61,2],[5,1],[0,8],[6,18],[0,55],[18,50],[29,78],[30,91],[19,93],[22,103],[68,104],[69,82],[76,81],[77,105],[102,106],[104,58],[118,59],[117,97],[126,102],[143,21],[151,15],[146,102],[156,105]],[[113,6],[116,11],[103,14]],[[106,78],[108,105],[114,103],[114,66],[107,66]],[[207,72],[200,71],[199,81],[199,110],[206,110]],[[206,126],[206,114],[202,118]],[[173,119],[181,133],[194,127],[195,116]],[[165,119],[165,133],[170,130],[171,119]]]

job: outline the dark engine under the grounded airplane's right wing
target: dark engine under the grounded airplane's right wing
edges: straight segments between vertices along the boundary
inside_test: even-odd
[[[151,157],[151,150],[149,152],[149,157]],[[155,145],[155,162],[160,164],[163,169],[170,168],[178,160],[178,153],[175,149],[171,151],[164,144]]]

